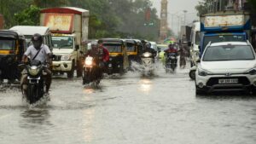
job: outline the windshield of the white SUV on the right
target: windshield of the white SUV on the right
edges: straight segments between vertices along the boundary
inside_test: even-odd
[[[208,47],[203,61],[255,60],[253,49],[247,45],[225,45]]]

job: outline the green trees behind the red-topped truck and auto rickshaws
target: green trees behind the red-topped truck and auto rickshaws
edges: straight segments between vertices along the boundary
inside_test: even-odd
[[[0,0],[0,14],[6,28],[15,25],[39,25],[40,9],[78,7],[90,10],[89,38],[136,37],[157,40],[160,20],[151,9],[150,21],[145,12],[152,7],[150,0]],[[12,9],[15,8],[15,9]],[[144,23],[153,25],[144,26]]]

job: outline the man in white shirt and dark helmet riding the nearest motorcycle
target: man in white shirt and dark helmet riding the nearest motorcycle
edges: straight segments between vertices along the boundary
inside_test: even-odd
[[[50,59],[51,57],[51,52],[49,50],[49,47],[45,44],[43,44],[43,37],[35,33],[32,36],[32,45],[29,46],[26,49],[26,52],[24,53],[21,62],[25,63],[27,60],[27,57],[30,56],[30,59],[32,60],[40,60],[43,64],[47,64],[47,68],[44,69],[44,72],[47,73],[45,76],[45,86],[46,86],[46,94],[49,94],[49,87],[51,84],[51,71],[50,71],[50,66],[52,64],[52,60]],[[27,85],[27,72],[26,70],[23,70],[21,72],[21,78],[20,78],[20,84],[22,88],[25,86],[25,91],[26,91],[26,85]]]

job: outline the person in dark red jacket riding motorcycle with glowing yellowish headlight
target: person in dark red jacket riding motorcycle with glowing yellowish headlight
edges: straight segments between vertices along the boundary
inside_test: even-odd
[[[104,72],[107,62],[109,60],[109,52],[108,49],[103,47],[102,40],[99,40],[98,43],[91,42],[91,49],[84,55],[85,57],[90,55],[93,58],[96,58],[96,64],[101,68],[102,72]],[[101,75],[102,75],[101,72]]]

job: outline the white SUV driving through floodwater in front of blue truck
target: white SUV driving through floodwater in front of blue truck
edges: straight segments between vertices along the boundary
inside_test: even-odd
[[[249,42],[209,43],[195,72],[196,94],[224,90],[255,93],[256,60]]]

